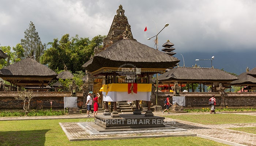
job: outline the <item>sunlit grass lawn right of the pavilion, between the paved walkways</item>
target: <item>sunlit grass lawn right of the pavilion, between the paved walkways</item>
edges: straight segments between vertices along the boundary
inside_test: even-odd
[[[256,116],[238,114],[170,115],[165,117],[199,124],[255,123],[256,121]]]

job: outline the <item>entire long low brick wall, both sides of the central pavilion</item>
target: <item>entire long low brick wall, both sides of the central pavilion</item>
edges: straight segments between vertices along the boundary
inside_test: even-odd
[[[16,100],[14,97],[17,92],[0,92],[0,110],[21,110],[23,103],[21,100]],[[215,94],[217,107],[256,107],[256,92],[233,93],[226,92],[222,99],[219,92],[187,92],[181,93],[180,96],[185,96],[186,108],[202,108],[210,107],[208,100],[211,95]],[[31,109],[50,109],[50,101],[52,101],[52,109],[63,109],[63,97],[69,97],[70,92],[34,92],[34,98],[31,100]],[[170,95],[172,101],[172,92],[158,92],[158,105],[164,105],[167,95]],[[83,107],[83,93],[77,92],[78,107]],[[155,93],[152,93],[152,103],[155,105]]]

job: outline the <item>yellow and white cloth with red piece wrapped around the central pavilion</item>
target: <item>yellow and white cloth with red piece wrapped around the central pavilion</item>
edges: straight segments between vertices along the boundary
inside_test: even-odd
[[[103,86],[103,101],[150,101],[151,84],[107,84]]]

